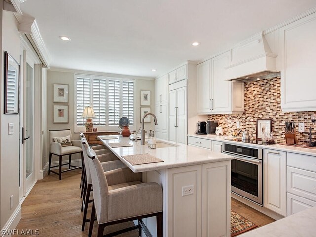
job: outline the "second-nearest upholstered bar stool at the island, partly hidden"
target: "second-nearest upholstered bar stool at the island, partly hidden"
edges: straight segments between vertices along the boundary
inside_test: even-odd
[[[89,203],[92,202],[92,200],[90,200],[90,193],[92,191],[92,179],[91,179],[90,168],[89,168],[89,163],[88,163],[88,156],[86,153],[86,150],[88,149],[89,146],[85,137],[82,137],[81,143],[82,143],[82,150],[83,150],[83,160],[84,160],[84,165],[85,165],[85,170],[86,170],[85,172],[86,178],[85,178],[85,184],[84,184],[85,189],[84,189],[82,207],[81,207],[81,211],[83,208],[82,231],[84,231],[85,223],[90,221],[90,219],[87,218],[87,211],[88,211]],[[126,167],[126,165],[121,160],[110,160],[107,162],[102,162],[101,165],[104,171]]]

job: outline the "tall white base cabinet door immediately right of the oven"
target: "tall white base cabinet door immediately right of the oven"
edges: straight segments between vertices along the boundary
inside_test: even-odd
[[[264,149],[263,206],[286,215],[286,153]]]

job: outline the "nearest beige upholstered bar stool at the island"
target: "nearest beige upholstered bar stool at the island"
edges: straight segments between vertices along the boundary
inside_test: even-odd
[[[98,222],[98,237],[103,236],[106,226],[133,220],[138,220],[138,226],[112,234],[118,235],[138,228],[140,235],[142,228],[147,229],[142,218],[151,216],[156,216],[157,236],[162,237],[161,186],[157,183],[142,183],[142,174],[133,173],[129,168],[104,172],[97,155],[90,147],[87,149],[87,155],[93,185],[89,237],[92,236],[95,214]]]

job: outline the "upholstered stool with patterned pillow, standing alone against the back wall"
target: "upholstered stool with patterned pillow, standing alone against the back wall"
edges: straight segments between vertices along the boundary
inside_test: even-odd
[[[49,165],[48,165],[48,175],[50,172],[59,175],[59,180],[61,180],[61,174],[63,172],[71,171],[74,169],[82,168],[82,166],[71,165],[72,154],[81,153],[81,162],[83,163],[83,153],[81,148],[80,140],[72,140],[70,129],[67,130],[49,130]],[[52,155],[58,156],[58,165],[51,166]],[[62,164],[62,157],[69,155],[69,162]],[[61,170],[62,166],[68,165],[67,170]],[[59,172],[51,170],[52,168],[58,167]]]

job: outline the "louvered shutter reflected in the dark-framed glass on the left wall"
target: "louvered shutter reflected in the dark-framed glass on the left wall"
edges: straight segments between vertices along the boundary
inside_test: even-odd
[[[9,67],[8,78],[7,78],[7,111],[17,111],[18,100],[15,99],[18,90],[17,84],[17,71]]]

